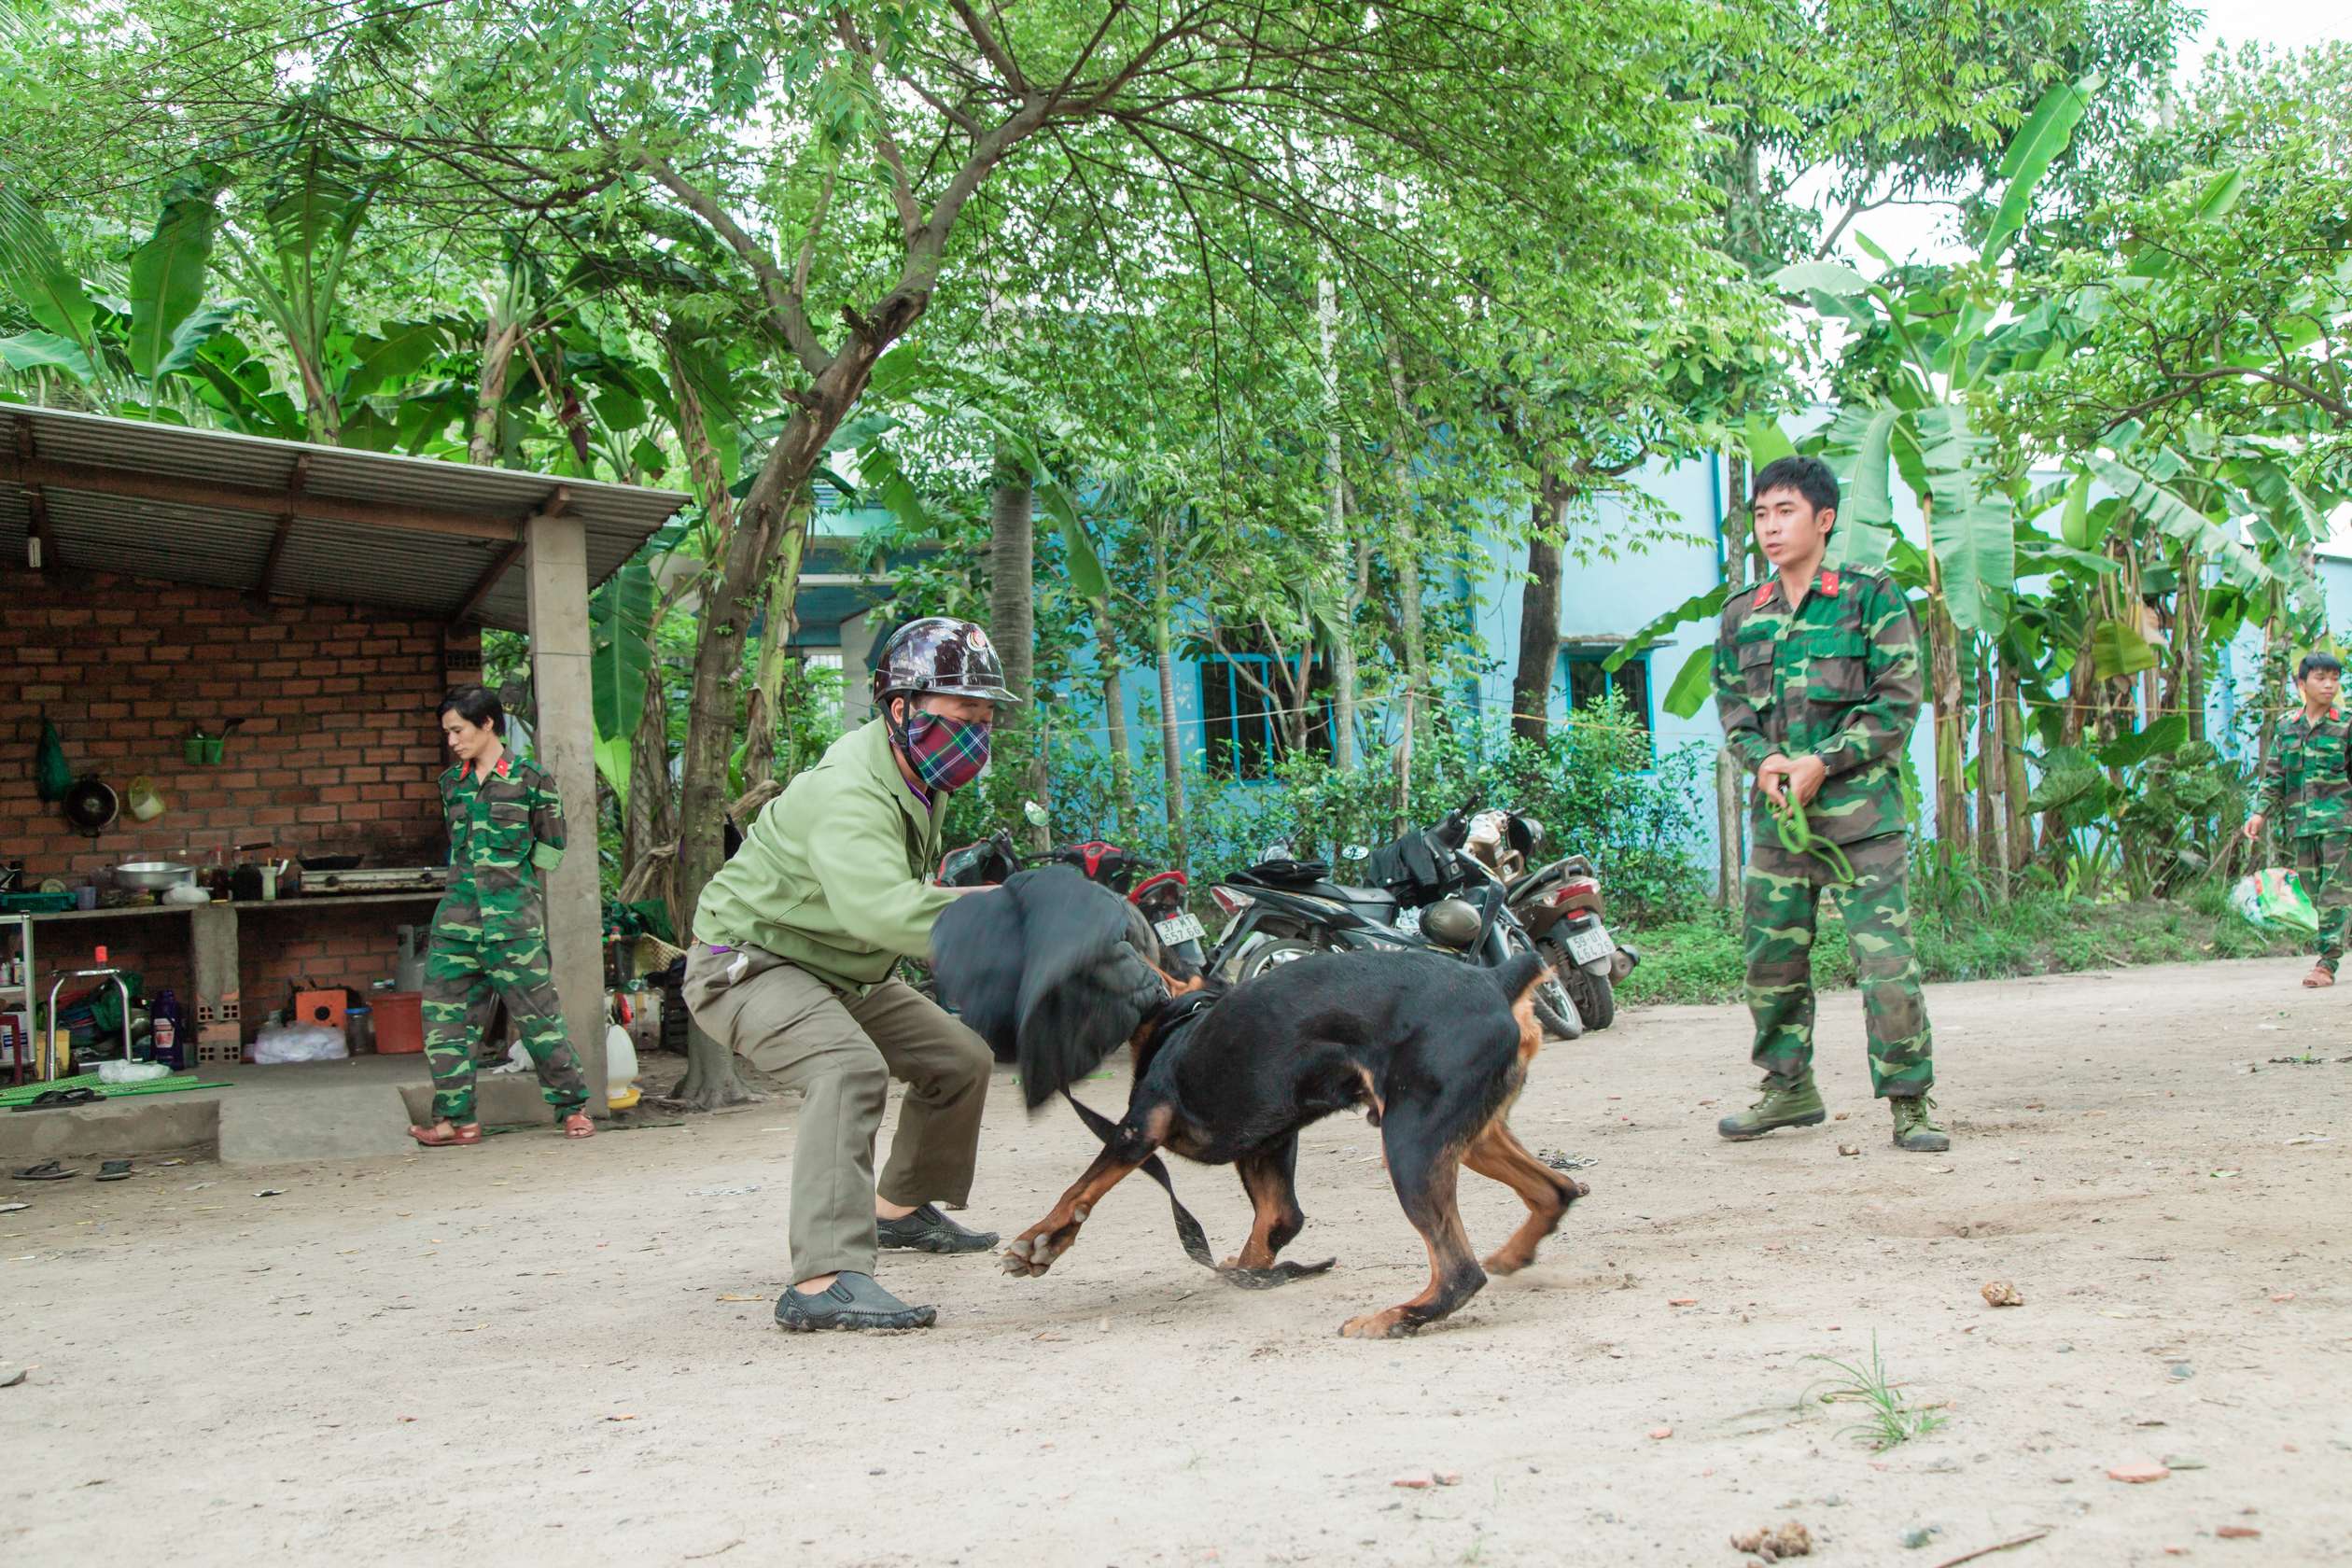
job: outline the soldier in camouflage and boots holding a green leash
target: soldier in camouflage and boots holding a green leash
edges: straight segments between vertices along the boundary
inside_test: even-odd
[[[1818,458],[1764,465],[1755,520],[1778,574],[1724,609],[1715,710],[1724,743],[1757,780],[1740,889],[1764,1098],[1717,1131],[1759,1138],[1828,1114],[1813,1084],[1813,917],[1828,891],[1846,917],[1870,1081],[1893,1110],[1893,1140],[1947,1150],[1926,1098],[1936,1067],[1912,957],[1903,811],[1919,628],[1884,574],[1820,564],[1837,522],[1837,480]]]

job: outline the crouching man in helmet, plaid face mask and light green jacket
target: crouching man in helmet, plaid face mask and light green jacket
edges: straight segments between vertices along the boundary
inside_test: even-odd
[[[786,1328],[929,1328],[875,1276],[875,1248],[978,1253],[993,1232],[962,1208],[981,1143],[988,1046],[891,978],[929,952],[931,922],[962,891],[938,865],[948,795],[988,766],[1004,665],[969,621],[901,628],[875,670],[875,717],[826,752],[743,835],[694,912],[687,1006],[720,1044],[807,1093],[793,1145],[793,1284]],[[906,1107],[875,1180],[889,1081]]]

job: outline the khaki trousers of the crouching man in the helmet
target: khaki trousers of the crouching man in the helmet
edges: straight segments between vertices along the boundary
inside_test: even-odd
[[[809,1095],[793,1147],[793,1284],[875,1272],[875,1194],[948,1204],[971,1194],[988,1105],[988,1046],[898,980],[837,992],[757,947],[687,954],[694,1023],[760,1072]],[[875,1180],[875,1133],[889,1081],[906,1105]]]

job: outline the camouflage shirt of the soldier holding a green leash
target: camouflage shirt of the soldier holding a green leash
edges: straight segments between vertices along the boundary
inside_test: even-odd
[[[1743,588],[1715,637],[1715,712],[1724,745],[1750,773],[1773,752],[1828,764],[1806,806],[1823,839],[1903,832],[1903,745],[1919,717],[1910,599],[1877,571],[1828,567],[1797,607],[1780,578]],[[1769,809],[1759,790],[1759,830]]]

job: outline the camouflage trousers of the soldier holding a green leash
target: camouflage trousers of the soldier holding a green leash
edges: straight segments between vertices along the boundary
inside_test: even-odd
[[[1936,1081],[1936,1063],[1910,945],[1910,842],[1896,832],[1844,849],[1853,860],[1851,889],[1830,889],[1835,872],[1828,865],[1771,839],[1748,851],[1740,891],[1755,1065],[1783,1084],[1813,1070],[1813,914],[1828,889],[1846,917],[1846,945],[1863,987],[1870,1086],[1879,1098],[1922,1095]]]

